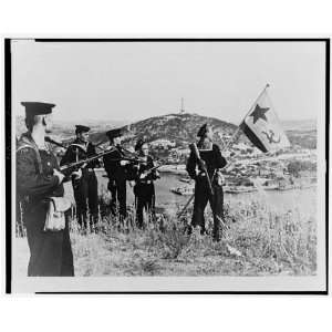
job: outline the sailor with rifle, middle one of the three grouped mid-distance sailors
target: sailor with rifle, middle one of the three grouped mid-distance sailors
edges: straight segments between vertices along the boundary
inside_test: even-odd
[[[104,167],[108,177],[107,188],[111,191],[111,212],[116,216],[117,212],[123,221],[127,216],[126,209],[126,179],[129,162],[122,160],[124,154],[121,148],[122,131],[111,129],[106,133],[110,139],[107,149],[114,149],[113,153],[103,157]]]

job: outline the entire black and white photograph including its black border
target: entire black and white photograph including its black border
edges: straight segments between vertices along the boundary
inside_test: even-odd
[[[319,38],[7,39],[10,292],[326,293],[329,66]]]

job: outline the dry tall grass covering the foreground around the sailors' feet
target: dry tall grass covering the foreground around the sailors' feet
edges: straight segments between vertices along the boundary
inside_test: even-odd
[[[103,217],[97,232],[82,235],[75,220],[71,239],[76,276],[271,276],[314,274],[317,270],[315,220],[300,210],[276,211],[261,201],[226,205],[220,242],[199,229],[188,236],[187,221],[157,215],[145,230]],[[104,214],[107,215],[107,214]],[[207,229],[212,218],[207,214]]]

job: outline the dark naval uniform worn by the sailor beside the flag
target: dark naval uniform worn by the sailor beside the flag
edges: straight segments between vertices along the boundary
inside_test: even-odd
[[[207,203],[209,201],[211,210],[214,211],[214,238],[216,240],[219,240],[219,218],[224,218],[224,191],[222,186],[218,185],[218,183],[215,180],[214,175],[217,168],[225,167],[227,162],[222,157],[219,146],[216,144],[212,144],[211,148],[209,149],[203,149],[198,145],[198,151],[200,158],[206,163],[208,175],[210,179],[212,179],[214,196],[211,197],[209,195],[208,181],[206,176],[204,176],[201,172],[197,173],[197,159],[191,152],[187,162],[187,172],[189,176],[196,181],[191,226],[200,226],[201,234],[205,232],[204,210],[207,206]]]

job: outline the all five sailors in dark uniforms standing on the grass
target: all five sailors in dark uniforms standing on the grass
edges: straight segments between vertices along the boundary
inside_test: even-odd
[[[54,205],[55,211],[61,211],[61,207],[64,206],[61,204],[64,196],[63,183],[71,179],[81,228],[86,229],[89,225],[93,227],[98,221],[97,178],[94,169],[101,166],[100,160],[90,160],[77,169],[71,169],[70,174],[60,169],[60,166],[95,156],[96,147],[89,139],[90,128],[76,125],[76,138],[68,147],[59,165],[52,149],[45,143],[45,135],[51,132],[51,114],[55,105],[38,102],[25,102],[22,105],[25,107],[28,132],[21,136],[17,147],[17,195],[18,199],[24,201],[23,220],[31,255],[28,276],[74,276],[68,215],[64,214],[63,227],[56,231],[45,229],[45,220],[50,218],[50,198],[59,203],[58,207]],[[122,131],[112,129],[106,135],[110,139],[106,151],[110,153],[103,155],[103,164],[112,197],[111,215],[122,222],[126,220],[126,181],[134,181],[136,225],[144,228],[144,215],[154,216],[154,180],[159,177],[149,155],[148,144],[138,139],[135,145],[135,158],[127,158],[121,144]],[[201,234],[206,232],[204,210],[209,201],[214,211],[212,236],[218,241],[220,221],[224,219],[224,194],[218,169],[226,165],[226,160],[218,145],[212,144],[210,126],[203,125],[197,136],[200,163],[193,152],[187,163],[187,172],[196,181],[191,226],[200,226]],[[204,167],[200,167],[201,163]],[[207,186],[207,177],[212,179],[214,197]],[[54,218],[56,217],[59,216]]]

